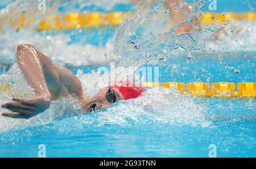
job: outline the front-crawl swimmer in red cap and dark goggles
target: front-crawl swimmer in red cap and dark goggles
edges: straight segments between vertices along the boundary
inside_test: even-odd
[[[52,100],[59,100],[70,95],[79,100],[85,112],[91,112],[108,107],[119,100],[137,98],[145,91],[143,87],[135,87],[131,82],[117,82],[109,84],[98,94],[88,98],[83,93],[81,82],[69,69],[53,64],[46,55],[32,45],[18,45],[16,58],[19,69],[34,89],[36,97],[13,98],[14,102],[3,104],[2,108],[10,111],[2,113],[6,117],[30,119],[46,111]]]

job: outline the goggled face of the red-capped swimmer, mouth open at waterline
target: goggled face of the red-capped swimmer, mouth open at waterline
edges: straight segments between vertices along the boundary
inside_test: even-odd
[[[119,100],[124,100],[121,92],[115,88],[107,87],[89,100],[85,106],[86,112],[95,111],[100,108],[108,107],[110,104],[118,102]]]

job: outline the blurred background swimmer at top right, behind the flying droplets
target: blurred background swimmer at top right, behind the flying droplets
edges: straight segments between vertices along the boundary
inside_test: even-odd
[[[144,1],[145,0],[131,0],[132,3],[142,3]],[[151,3],[156,1],[158,0],[152,0]],[[163,32],[170,31],[176,24],[182,22],[183,19],[188,18],[190,14],[196,12],[185,0],[165,0],[164,6],[171,12],[171,23],[167,28],[163,29]],[[239,36],[245,33],[247,29],[247,26],[242,22],[230,22],[222,25],[216,31],[211,33],[209,39],[223,40],[226,39],[227,36]],[[201,32],[200,18],[196,16],[192,18],[192,24],[185,22],[175,29],[176,35],[194,32]]]

